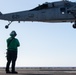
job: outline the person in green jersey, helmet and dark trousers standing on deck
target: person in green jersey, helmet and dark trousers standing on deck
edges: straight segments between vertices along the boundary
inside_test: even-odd
[[[6,64],[6,73],[14,73],[15,71],[15,63],[17,60],[18,47],[20,46],[19,40],[15,38],[17,33],[12,31],[10,33],[10,37],[7,39],[7,64]],[[11,71],[9,70],[10,63],[12,62]]]

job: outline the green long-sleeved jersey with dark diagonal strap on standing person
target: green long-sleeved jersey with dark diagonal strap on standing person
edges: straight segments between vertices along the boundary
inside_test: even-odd
[[[19,40],[17,38],[8,38],[7,39],[7,49],[12,51],[17,51],[17,47],[20,46]]]

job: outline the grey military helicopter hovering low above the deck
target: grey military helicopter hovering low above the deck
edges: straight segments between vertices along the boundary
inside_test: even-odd
[[[19,12],[2,14],[0,12],[0,20],[8,21],[9,25],[18,21],[36,21],[36,22],[74,22],[72,27],[76,29],[76,3],[68,0],[45,2],[37,7]]]

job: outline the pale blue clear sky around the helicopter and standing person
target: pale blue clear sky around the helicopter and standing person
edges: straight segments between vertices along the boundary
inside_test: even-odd
[[[30,10],[58,0],[1,0],[5,13]],[[72,0],[73,2],[75,0]],[[20,41],[16,67],[76,67],[76,29],[73,23],[13,22],[0,20],[0,67],[6,66],[6,39],[12,30]]]

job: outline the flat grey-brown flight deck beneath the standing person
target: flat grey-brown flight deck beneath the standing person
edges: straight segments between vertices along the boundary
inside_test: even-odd
[[[18,67],[14,75],[76,75],[75,67]],[[0,75],[6,74],[5,68],[0,68]]]

